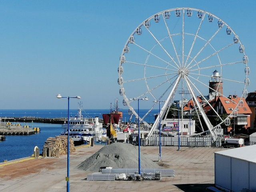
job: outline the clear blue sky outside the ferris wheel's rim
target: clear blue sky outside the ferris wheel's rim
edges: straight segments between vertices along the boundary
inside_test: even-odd
[[[253,0],[0,0],[0,108],[66,108],[56,94],[79,95],[87,109],[109,108],[115,98],[121,105],[117,68],[126,40],[146,18],[176,7],[205,10],[232,27],[248,55],[247,89],[254,91]]]

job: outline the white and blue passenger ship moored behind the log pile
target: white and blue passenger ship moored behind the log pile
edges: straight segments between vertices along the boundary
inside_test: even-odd
[[[62,130],[61,135],[68,135],[68,124],[64,123]],[[83,118],[81,108],[78,108],[78,114],[69,118],[69,136],[75,145],[87,144],[91,138],[98,141],[106,137],[106,129],[103,129],[98,117]]]

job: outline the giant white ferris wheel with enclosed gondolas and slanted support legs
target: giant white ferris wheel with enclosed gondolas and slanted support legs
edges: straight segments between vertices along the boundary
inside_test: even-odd
[[[216,127],[243,107],[249,73],[244,46],[226,22],[204,10],[173,8],[150,16],[128,37],[120,56],[118,84],[124,106],[137,118],[134,101],[148,98],[141,102],[142,108],[149,109],[140,115],[142,121],[157,102],[165,101],[150,134],[179,100],[181,118],[186,109],[192,111],[202,132],[208,128],[216,140]],[[235,104],[227,118],[215,106],[219,97]],[[217,119],[216,125],[208,114]]]

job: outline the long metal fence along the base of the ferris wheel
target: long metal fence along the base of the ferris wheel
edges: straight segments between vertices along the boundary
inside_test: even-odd
[[[148,140],[141,140],[142,146],[159,146],[159,137],[149,137]],[[162,146],[178,146],[178,137],[161,137]],[[210,147],[211,137],[180,137],[181,147]]]

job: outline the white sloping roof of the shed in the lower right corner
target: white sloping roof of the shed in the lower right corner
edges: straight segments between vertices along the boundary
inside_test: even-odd
[[[220,155],[256,163],[256,145],[219,151],[219,152],[215,152],[215,154],[220,154]]]

